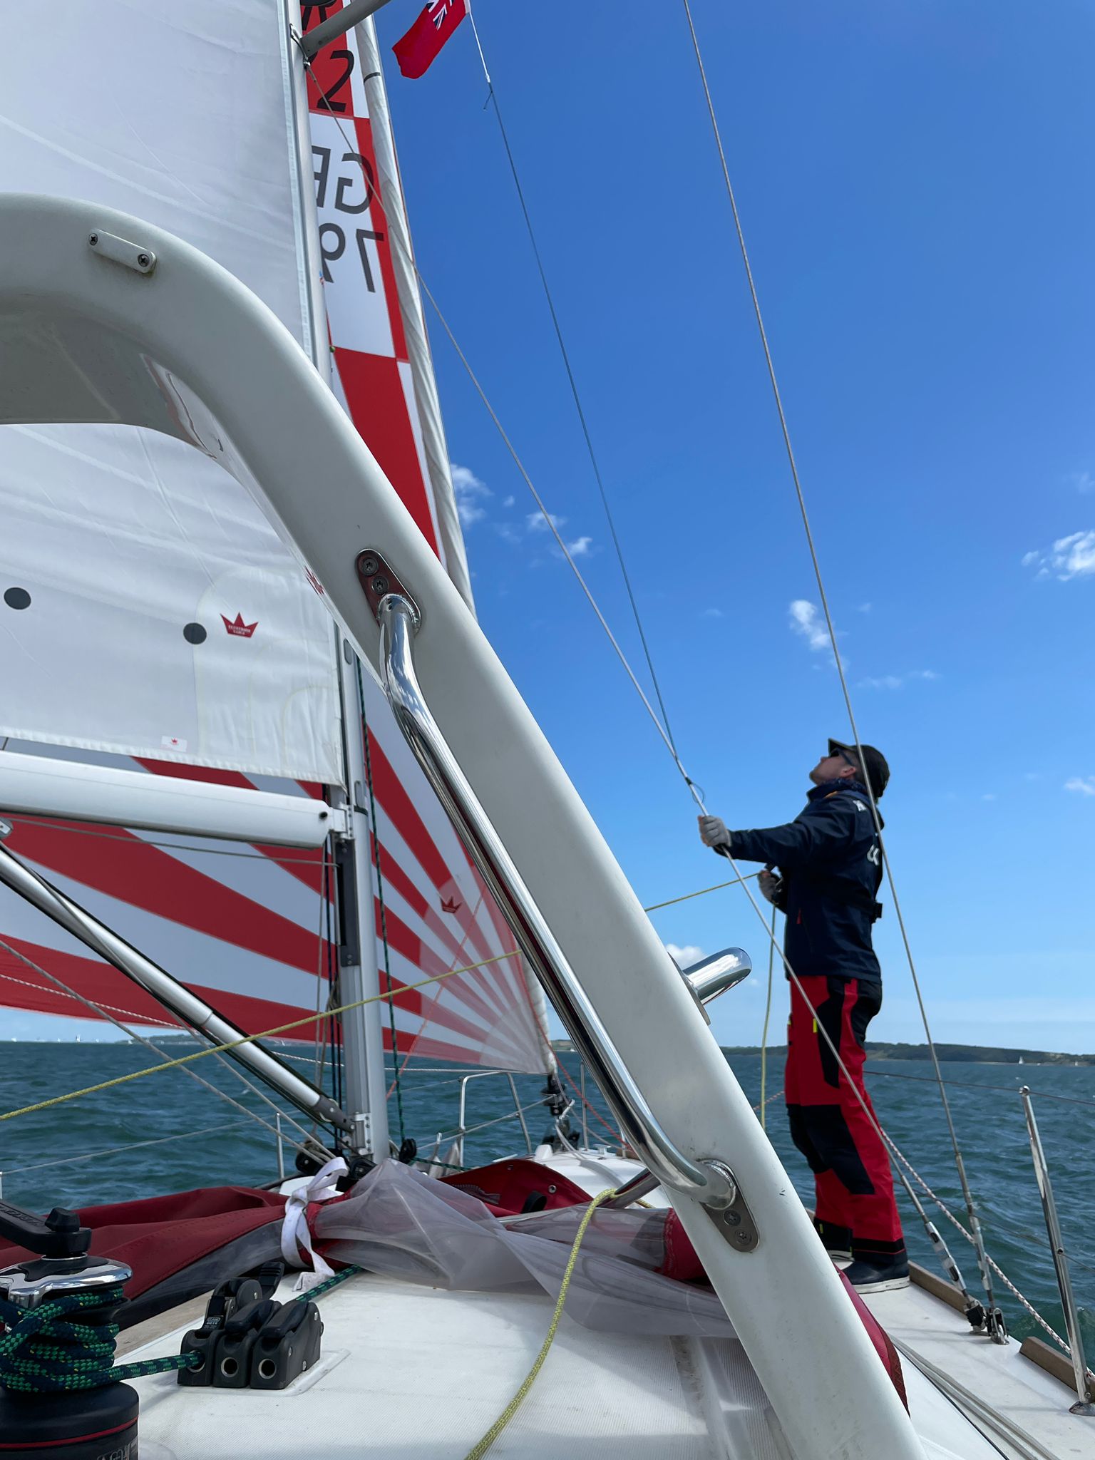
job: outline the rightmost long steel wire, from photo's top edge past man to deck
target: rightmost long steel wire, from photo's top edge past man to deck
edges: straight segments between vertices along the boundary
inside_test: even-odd
[[[780,431],[783,432],[783,441],[784,441],[784,447],[787,450],[787,461],[788,461],[788,466],[791,469],[791,480],[794,482],[794,492],[796,492],[796,496],[799,499],[799,512],[802,515],[803,529],[806,531],[806,543],[807,543],[809,550],[810,550],[810,562],[813,564],[813,575],[815,575],[815,580],[818,583],[818,594],[821,597],[822,612],[825,613],[825,626],[828,629],[829,642],[832,645],[832,657],[834,657],[834,661],[837,664],[837,673],[840,676],[841,694],[844,696],[844,705],[845,705],[845,708],[848,711],[848,723],[851,726],[851,733],[853,733],[853,737],[856,740],[856,750],[858,752],[860,766],[863,769],[863,780],[864,780],[864,784],[866,784],[866,788],[867,788],[867,797],[870,800],[872,816],[875,819],[875,831],[876,831],[877,838],[879,838],[879,847],[882,848],[882,861],[883,861],[885,869],[886,869],[886,880],[889,882],[891,896],[894,898],[894,912],[896,915],[898,927],[901,930],[901,940],[902,940],[902,943],[905,946],[905,958],[908,959],[910,974],[912,975],[912,987],[915,988],[917,1004],[920,1006],[920,1018],[921,1018],[921,1022],[924,1025],[924,1035],[927,1038],[929,1050],[931,1051],[931,1063],[934,1064],[936,1079],[939,1082],[939,1096],[940,1096],[940,1099],[943,1102],[943,1113],[946,1115],[946,1124],[948,1124],[948,1130],[949,1130],[949,1134],[950,1134],[950,1145],[952,1145],[953,1153],[955,1153],[955,1165],[958,1168],[958,1178],[959,1178],[959,1181],[962,1184],[962,1196],[964,1196],[964,1200],[965,1200],[967,1213],[969,1216],[969,1226],[971,1226],[971,1231],[974,1232],[974,1237],[977,1240],[977,1242],[975,1242],[975,1245],[977,1245],[977,1260],[978,1260],[978,1266],[981,1269],[981,1280],[984,1282],[986,1295],[988,1298],[990,1323],[994,1324],[996,1320],[994,1320],[994,1315],[993,1315],[993,1307],[994,1307],[994,1304],[993,1304],[993,1280],[991,1280],[991,1273],[988,1272],[988,1266],[987,1266],[987,1253],[984,1250],[984,1241],[981,1238],[981,1225],[978,1222],[977,1209],[974,1206],[974,1194],[972,1194],[972,1190],[969,1188],[969,1181],[968,1181],[967,1174],[965,1174],[965,1162],[962,1161],[962,1150],[961,1150],[961,1146],[958,1143],[958,1132],[955,1130],[955,1121],[953,1121],[953,1115],[950,1113],[950,1101],[948,1099],[946,1088],[943,1085],[943,1072],[939,1067],[939,1056],[936,1054],[934,1040],[931,1038],[931,1028],[930,1028],[929,1019],[927,1019],[927,1007],[924,1004],[924,996],[923,996],[921,988],[920,988],[920,978],[917,975],[917,965],[915,965],[915,959],[912,958],[912,946],[910,943],[908,933],[905,930],[905,918],[904,918],[902,911],[901,911],[901,901],[898,898],[898,889],[896,889],[896,883],[894,880],[894,870],[892,870],[892,867],[889,864],[889,854],[886,853],[886,844],[885,844],[883,837],[882,837],[882,818],[879,816],[877,802],[875,799],[875,790],[873,790],[873,787],[870,784],[870,774],[869,774],[866,762],[863,759],[863,743],[860,740],[858,726],[856,724],[856,712],[854,712],[854,710],[851,707],[851,694],[848,691],[848,680],[847,680],[847,676],[844,673],[844,663],[841,660],[840,648],[838,648],[838,644],[837,644],[837,629],[834,628],[834,623],[832,623],[832,613],[829,612],[829,600],[828,600],[828,594],[825,593],[825,581],[822,578],[821,562],[818,559],[818,549],[816,549],[815,542],[813,542],[813,531],[810,529],[810,518],[809,518],[809,514],[806,511],[806,496],[804,496],[803,489],[802,489],[802,482],[799,479],[799,467],[796,464],[794,451],[791,448],[791,434],[790,434],[790,429],[787,426],[787,416],[785,416],[784,409],[783,409],[783,397],[780,396],[780,384],[778,384],[778,381],[775,378],[775,364],[772,361],[772,352],[771,352],[769,345],[768,345],[768,331],[765,330],[765,326],[764,326],[764,315],[761,312],[761,299],[759,299],[759,295],[756,292],[756,283],[753,280],[753,270],[752,270],[752,266],[749,263],[749,251],[748,251],[746,244],[745,244],[745,231],[742,228],[742,219],[740,219],[739,212],[737,212],[737,201],[734,199],[733,184],[730,182],[730,168],[729,168],[727,161],[726,161],[726,150],[723,147],[723,137],[721,137],[721,133],[718,130],[718,118],[715,117],[715,105],[714,105],[714,99],[711,96],[711,88],[708,86],[708,80],[707,80],[707,69],[704,66],[704,55],[702,55],[702,51],[699,48],[699,36],[696,35],[696,28],[695,28],[695,23],[692,20],[692,7],[689,4],[689,0],[683,0],[683,6],[685,6],[685,16],[688,19],[688,29],[689,29],[689,34],[692,36],[692,47],[694,47],[695,54],[696,54],[696,64],[699,67],[699,79],[701,79],[702,86],[704,86],[704,96],[707,99],[707,110],[708,110],[708,115],[711,118],[711,130],[714,133],[715,146],[718,147],[718,161],[720,161],[721,168],[723,168],[723,181],[726,182],[726,193],[727,193],[727,199],[730,200],[730,212],[733,213],[733,219],[734,219],[734,231],[737,234],[737,245],[739,245],[739,248],[742,251],[742,263],[745,264],[746,280],[749,283],[749,296],[750,296],[752,304],[753,304],[753,314],[756,315],[756,328],[758,328],[758,333],[761,336],[761,346],[764,349],[764,358],[765,358],[765,364],[768,366],[768,380],[769,380],[771,387],[772,387],[772,399],[775,402],[775,409],[777,409],[777,413],[780,416]]]

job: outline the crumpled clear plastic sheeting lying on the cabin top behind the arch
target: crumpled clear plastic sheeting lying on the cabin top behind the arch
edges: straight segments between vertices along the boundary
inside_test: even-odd
[[[504,1221],[476,1197],[385,1161],[312,1219],[333,1263],[431,1288],[558,1298],[583,1206]],[[664,1210],[597,1210],[578,1253],[566,1314],[603,1333],[731,1339],[718,1298],[664,1278]]]

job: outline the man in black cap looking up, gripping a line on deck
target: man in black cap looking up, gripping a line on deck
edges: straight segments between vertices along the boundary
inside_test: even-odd
[[[870,937],[882,850],[867,783],[877,800],[889,766],[875,746],[829,740],[810,780],[785,826],[727,831],[701,816],[699,835],[734,861],[766,863],[759,886],[785,914],[784,956],[802,984],[791,984],[784,1095],[791,1139],[813,1171],[815,1225],[834,1259],[851,1257],[845,1276],[860,1292],[883,1292],[908,1285],[889,1156],[863,1083],[863,1041],[882,1007]]]

